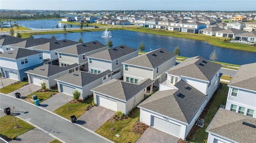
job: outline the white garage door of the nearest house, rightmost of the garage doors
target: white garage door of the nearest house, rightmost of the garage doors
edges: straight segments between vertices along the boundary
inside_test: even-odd
[[[162,131],[166,131],[167,133],[180,137],[180,125],[176,125],[155,116],[152,116],[151,125]]]

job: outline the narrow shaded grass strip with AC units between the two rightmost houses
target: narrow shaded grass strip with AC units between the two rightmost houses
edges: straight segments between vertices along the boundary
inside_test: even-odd
[[[212,100],[212,104],[211,104],[210,108],[208,109],[206,116],[202,117],[202,114],[200,116],[200,118],[204,119],[204,127],[192,128],[192,130],[190,131],[190,133],[192,133],[192,132],[195,132],[196,129],[198,129],[196,131],[194,137],[191,140],[192,142],[204,143],[204,140],[207,139],[207,137],[208,137],[208,133],[205,131],[206,128],[208,127],[210,121],[212,121],[212,118],[218,111],[220,104],[223,104],[223,105],[226,104],[226,100],[227,100],[227,96],[228,96],[228,86],[227,86],[227,84],[224,84],[224,83],[221,83],[221,84],[222,84],[222,87],[218,90],[218,93],[215,96],[214,100]],[[194,131],[193,131],[193,129],[194,129]],[[189,133],[189,135],[190,135],[190,133]],[[188,137],[189,137],[189,135],[188,135]]]

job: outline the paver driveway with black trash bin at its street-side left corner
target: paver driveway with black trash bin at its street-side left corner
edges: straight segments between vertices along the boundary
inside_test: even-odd
[[[75,123],[78,123],[87,129],[96,131],[108,119],[110,119],[116,112],[101,106],[94,106],[77,118]]]

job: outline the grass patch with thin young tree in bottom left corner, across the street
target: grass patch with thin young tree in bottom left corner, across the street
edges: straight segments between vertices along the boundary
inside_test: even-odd
[[[19,127],[14,129],[14,127],[16,127],[14,116],[3,116],[0,118],[1,137],[8,140],[8,138],[10,139],[12,137],[18,137],[19,135],[22,135],[23,133],[35,128],[21,119],[16,118],[16,121]]]

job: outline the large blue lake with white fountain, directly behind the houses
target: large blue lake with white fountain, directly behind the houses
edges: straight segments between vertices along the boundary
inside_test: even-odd
[[[255,52],[216,47],[210,45],[208,42],[205,41],[156,35],[150,33],[141,33],[127,30],[112,30],[111,38],[102,38],[102,32],[103,31],[58,33],[54,34],[54,36],[58,40],[69,39],[72,41],[78,41],[79,37],[81,37],[84,43],[98,40],[105,45],[108,43],[108,39],[110,39],[113,43],[113,47],[119,45],[127,45],[135,49],[138,49],[140,43],[144,42],[146,48],[145,51],[151,51],[163,47],[173,53],[174,47],[178,46],[180,47],[180,56],[194,57],[200,55],[208,60],[210,60],[209,56],[215,49],[218,55],[218,62],[236,65],[244,65],[256,62]],[[52,34],[34,35],[34,37],[51,38]]]

